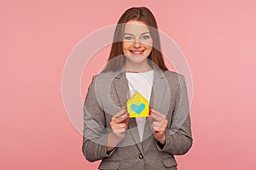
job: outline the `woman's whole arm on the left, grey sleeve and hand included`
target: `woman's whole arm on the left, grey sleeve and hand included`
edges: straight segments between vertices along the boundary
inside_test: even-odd
[[[101,99],[96,98],[96,77],[93,77],[84,101],[83,153],[88,161],[111,156],[115,147],[125,138],[129,115],[127,110],[117,112],[106,122]],[[107,124],[109,123],[109,124]],[[110,125],[110,127],[108,127]]]

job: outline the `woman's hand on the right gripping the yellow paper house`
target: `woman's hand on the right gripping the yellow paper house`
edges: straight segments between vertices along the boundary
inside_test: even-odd
[[[166,127],[167,119],[166,116],[158,111],[150,109],[151,114],[149,115],[150,127],[154,132],[154,139],[157,139],[160,144],[166,143]]]

